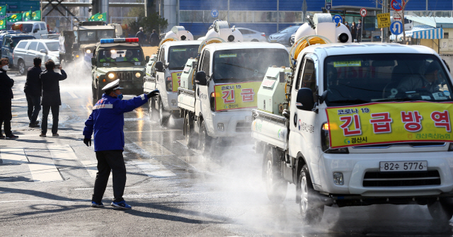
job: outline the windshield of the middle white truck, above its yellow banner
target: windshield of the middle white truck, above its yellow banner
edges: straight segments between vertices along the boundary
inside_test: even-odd
[[[214,52],[212,76],[216,83],[263,81],[269,67],[289,67],[282,49],[238,49]]]

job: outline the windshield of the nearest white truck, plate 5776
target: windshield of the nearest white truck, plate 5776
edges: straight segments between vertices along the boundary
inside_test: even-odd
[[[452,101],[452,82],[430,54],[354,54],[327,57],[328,106],[378,101]]]

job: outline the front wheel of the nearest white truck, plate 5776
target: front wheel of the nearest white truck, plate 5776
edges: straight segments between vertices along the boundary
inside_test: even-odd
[[[304,165],[299,176],[299,209],[306,224],[316,224],[323,218],[324,204],[319,200],[318,193],[311,183],[308,166]]]

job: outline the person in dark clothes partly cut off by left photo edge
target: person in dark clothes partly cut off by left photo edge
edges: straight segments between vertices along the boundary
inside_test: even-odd
[[[11,132],[11,100],[13,99],[14,80],[6,74],[8,70],[9,60],[6,58],[0,59],[0,138],[16,139],[18,136]],[[1,125],[4,126],[5,136],[1,133]]]

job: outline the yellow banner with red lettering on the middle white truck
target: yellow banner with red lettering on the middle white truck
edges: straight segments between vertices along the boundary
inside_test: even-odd
[[[261,81],[228,83],[214,86],[215,110],[256,108]]]

